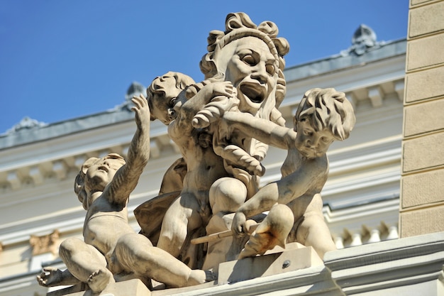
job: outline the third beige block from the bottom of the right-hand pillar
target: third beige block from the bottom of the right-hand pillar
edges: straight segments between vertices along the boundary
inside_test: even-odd
[[[413,138],[402,143],[402,172],[444,165],[444,132]]]

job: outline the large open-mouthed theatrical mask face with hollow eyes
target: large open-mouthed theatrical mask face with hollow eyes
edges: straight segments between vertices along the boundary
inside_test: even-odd
[[[268,46],[255,37],[234,40],[225,46],[226,80],[238,90],[240,111],[256,114],[277,85],[278,61]]]

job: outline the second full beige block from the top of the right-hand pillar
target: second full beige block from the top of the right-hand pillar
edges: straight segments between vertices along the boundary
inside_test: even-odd
[[[444,33],[411,40],[407,44],[407,71],[444,63]]]

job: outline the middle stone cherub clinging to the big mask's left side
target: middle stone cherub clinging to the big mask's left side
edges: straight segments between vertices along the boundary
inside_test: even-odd
[[[151,119],[160,119],[168,125],[168,134],[187,163],[182,192],[165,213],[157,243],[157,247],[178,258],[188,234],[203,229],[211,216],[209,188],[227,176],[223,160],[211,146],[211,131],[194,128],[192,119],[211,100],[228,97],[228,101],[235,102],[231,82],[189,82],[192,79],[187,75],[168,72],[155,78],[147,91]],[[182,261],[198,264],[194,258],[185,256],[182,255]]]

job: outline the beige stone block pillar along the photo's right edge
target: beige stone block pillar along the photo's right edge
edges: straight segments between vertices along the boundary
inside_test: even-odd
[[[411,0],[399,234],[444,231],[444,0]]]

